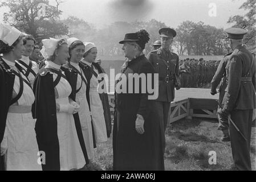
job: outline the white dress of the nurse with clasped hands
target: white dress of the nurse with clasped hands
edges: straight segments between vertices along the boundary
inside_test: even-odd
[[[48,61],[47,68],[60,70],[60,65]],[[54,80],[58,76],[52,73]],[[58,92],[56,104],[69,104],[68,96],[70,96],[72,89],[68,81],[61,77],[59,83],[55,86]],[[75,121],[72,114],[56,113],[58,123],[58,139],[60,152],[60,170],[67,171],[70,169],[79,169],[84,167],[86,160],[84,159],[83,151],[79,143],[78,134],[76,133]]]

